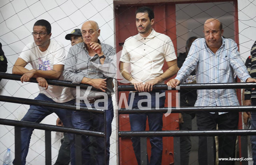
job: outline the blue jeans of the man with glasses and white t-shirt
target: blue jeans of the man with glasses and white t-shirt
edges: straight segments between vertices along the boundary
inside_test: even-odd
[[[48,98],[45,94],[39,93],[35,100],[43,100],[48,102],[54,102],[51,98]],[[73,105],[75,100],[65,102],[66,104]],[[26,115],[21,119],[21,121],[29,121],[34,123],[40,123],[46,116],[56,113],[60,120],[63,122],[65,127],[72,128],[71,115],[72,111],[50,108],[44,106],[33,106],[31,105]],[[28,154],[30,138],[33,132],[33,128],[21,128],[21,164],[26,164],[26,157]],[[72,137],[71,135],[69,137]],[[15,160],[13,161],[13,164]]]

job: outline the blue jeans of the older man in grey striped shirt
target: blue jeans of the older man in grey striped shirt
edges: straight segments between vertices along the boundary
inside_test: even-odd
[[[90,104],[94,108],[94,104]],[[87,107],[85,103],[80,103],[80,106]],[[104,107],[104,102],[99,102],[99,107]],[[107,136],[107,162],[105,162],[105,138],[104,137],[95,137],[96,141],[96,162],[97,165],[109,164],[109,138],[112,132],[111,123],[114,117],[114,109],[112,104],[112,98],[108,98],[106,110],[106,136]],[[72,123],[75,128],[85,129],[85,130],[94,130],[98,132],[105,132],[105,119],[104,114],[95,114],[86,111],[74,111],[72,115]],[[82,165],[91,165],[92,157],[89,151],[90,139],[88,136],[82,136]],[[75,150],[75,145],[71,145],[71,150]],[[72,152],[75,153],[75,152]],[[71,153],[71,164],[75,165],[75,155]]]

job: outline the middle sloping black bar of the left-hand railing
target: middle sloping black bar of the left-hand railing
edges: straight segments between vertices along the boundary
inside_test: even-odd
[[[65,103],[47,102],[47,101],[34,100],[34,99],[28,99],[28,98],[16,98],[16,97],[11,97],[11,96],[1,96],[0,95],[0,101],[12,102],[12,103],[18,103],[18,104],[26,104],[26,105],[60,108],[60,109],[66,109],[66,110],[71,110],[71,111],[88,111],[88,112],[93,112],[93,113],[104,113],[104,110],[98,110],[96,108],[88,109],[86,107],[80,106],[80,109],[77,109],[77,107],[75,105],[70,105],[70,104],[65,104]]]

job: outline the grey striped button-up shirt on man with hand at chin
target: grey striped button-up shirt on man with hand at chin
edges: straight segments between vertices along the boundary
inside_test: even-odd
[[[67,54],[67,59],[65,61],[64,78],[67,81],[72,81],[73,84],[80,84],[84,77],[92,79],[105,79],[107,78],[107,89],[106,93],[108,96],[111,95],[113,91],[112,81],[113,78],[109,77],[110,74],[116,73],[116,61],[113,60],[115,56],[115,50],[112,46],[107,44],[101,44],[101,49],[105,54],[104,64],[100,63],[98,54],[93,57],[89,56],[86,50],[84,42],[78,43],[69,49]],[[108,76],[106,76],[108,75]],[[73,90],[73,95],[76,89]],[[80,95],[84,96],[86,90],[81,89]],[[102,96],[95,96],[95,93],[102,92],[100,89],[91,90],[87,98],[99,98]]]

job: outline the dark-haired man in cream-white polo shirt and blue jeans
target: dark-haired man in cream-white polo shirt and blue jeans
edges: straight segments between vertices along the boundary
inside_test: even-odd
[[[153,85],[162,84],[165,80],[177,73],[177,60],[170,37],[157,33],[154,24],[154,12],[149,7],[140,7],[136,11],[136,26],[138,34],[125,40],[120,59],[120,72],[130,81],[137,90],[129,94],[130,100],[134,98],[133,108],[151,107],[161,108],[165,104],[165,91],[153,90]],[[162,67],[166,61],[168,69],[163,72]],[[130,67],[129,71],[127,68]],[[142,92],[148,92],[148,98]],[[163,94],[162,94],[163,93]],[[158,94],[162,94],[156,99]],[[148,99],[151,105],[144,102]],[[148,118],[150,131],[161,131],[163,126],[162,113],[130,114],[131,131],[145,131]],[[140,164],[140,138],[132,137],[133,150],[138,164]],[[163,142],[162,137],[151,137],[150,165],[161,164]]]

